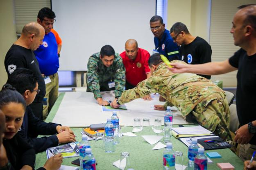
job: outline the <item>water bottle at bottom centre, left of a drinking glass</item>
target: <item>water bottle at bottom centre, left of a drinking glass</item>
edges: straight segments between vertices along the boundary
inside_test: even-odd
[[[166,149],[163,151],[163,170],[175,170],[175,155],[170,142],[166,144]]]

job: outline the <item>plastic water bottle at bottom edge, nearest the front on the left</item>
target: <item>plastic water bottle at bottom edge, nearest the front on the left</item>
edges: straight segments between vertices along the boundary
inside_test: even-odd
[[[83,159],[83,170],[96,170],[96,161],[92,154],[91,148],[86,148],[85,157]]]

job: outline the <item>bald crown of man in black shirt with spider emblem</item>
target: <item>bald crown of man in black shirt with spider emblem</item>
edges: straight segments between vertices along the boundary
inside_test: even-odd
[[[44,31],[43,26],[36,22],[30,22],[23,27],[22,34],[25,36],[34,34],[37,37],[40,35],[41,31]]]

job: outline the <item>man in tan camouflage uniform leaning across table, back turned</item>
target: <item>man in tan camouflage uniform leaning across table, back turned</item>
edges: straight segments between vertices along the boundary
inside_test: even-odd
[[[165,105],[154,105],[156,110],[166,110],[167,106],[176,106],[184,119],[193,114],[199,124],[233,144],[229,132],[229,104],[221,88],[196,74],[172,73],[162,62],[159,53],[150,57],[149,66],[151,77],[140,82],[135,88],[124,91],[111,103],[113,108],[157,92],[167,102]]]

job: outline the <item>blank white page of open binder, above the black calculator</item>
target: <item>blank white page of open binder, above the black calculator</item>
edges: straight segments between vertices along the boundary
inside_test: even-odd
[[[175,132],[181,135],[191,135],[191,134],[207,134],[212,133],[210,130],[203,128],[202,126],[188,126],[188,127],[178,127],[172,128]]]

